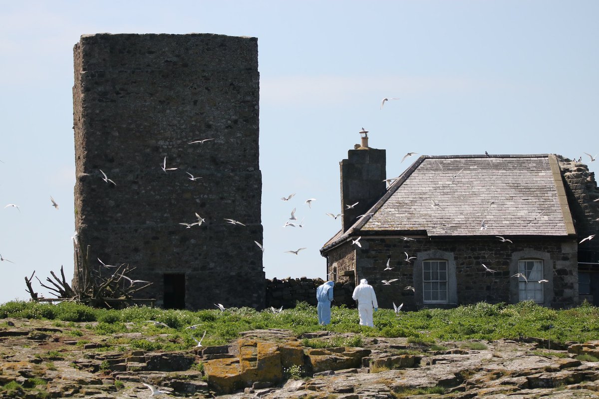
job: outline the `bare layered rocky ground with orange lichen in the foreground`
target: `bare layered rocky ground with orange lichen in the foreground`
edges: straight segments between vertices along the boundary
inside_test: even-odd
[[[533,339],[430,346],[364,338],[361,348],[310,348],[302,338],[318,346],[331,336],[258,330],[227,346],[160,353],[115,351],[106,336],[56,324],[3,320],[0,398],[150,397],[142,382],[168,392],[159,397],[599,398],[599,362],[589,361],[599,341],[547,349]],[[138,334],[116,335],[149,339]]]

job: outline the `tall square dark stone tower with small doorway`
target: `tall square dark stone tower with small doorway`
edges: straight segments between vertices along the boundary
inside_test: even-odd
[[[257,39],[84,35],[74,69],[73,284],[128,263],[158,306],[264,307]]]

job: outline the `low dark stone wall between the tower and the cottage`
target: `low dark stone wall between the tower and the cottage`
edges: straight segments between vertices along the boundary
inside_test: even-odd
[[[301,278],[286,278],[286,279],[267,279],[266,281],[266,306],[284,308],[295,307],[296,301],[304,301],[312,305],[317,304],[316,288],[325,284],[321,278],[310,279]],[[332,305],[340,306],[342,304],[347,307],[356,307],[355,301],[352,299],[352,293],[355,285],[353,282],[336,282],[333,288],[334,301]]]

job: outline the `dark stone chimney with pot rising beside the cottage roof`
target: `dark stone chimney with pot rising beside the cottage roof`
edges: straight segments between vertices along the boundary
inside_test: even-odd
[[[347,151],[339,163],[341,172],[341,228],[346,232],[386,191],[386,151],[368,147],[368,132],[362,128],[361,145]],[[355,203],[358,205],[354,205]],[[353,208],[348,206],[353,205]]]

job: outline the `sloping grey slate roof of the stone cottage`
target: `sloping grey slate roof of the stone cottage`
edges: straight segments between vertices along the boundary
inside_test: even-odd
[[[420,156],[368,213],[373,215],[356,221],[346,233],[335,234],[325,247],[348,235],[377,232],[428,236],[575,234],[553,154]]]

